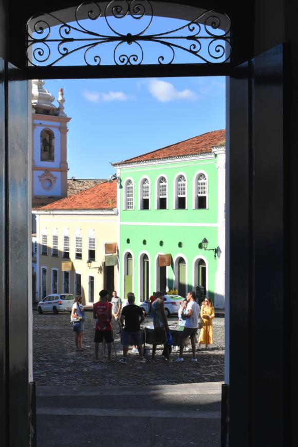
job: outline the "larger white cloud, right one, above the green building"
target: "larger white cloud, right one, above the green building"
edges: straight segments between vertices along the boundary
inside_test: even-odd
[[[160,81],[158,79],[150,80],[148,83],[150,93],[160,102],[170,102],[177,99],[195,101],[198,95],[188,88],[178,91],[170,82]]]

